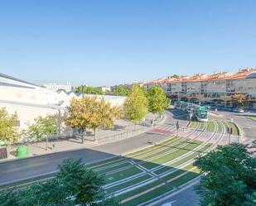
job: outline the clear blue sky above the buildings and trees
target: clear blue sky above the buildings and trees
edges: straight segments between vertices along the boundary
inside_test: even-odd
[[[256,67],[256,1],[1,1],[0,72],[112,85]]]

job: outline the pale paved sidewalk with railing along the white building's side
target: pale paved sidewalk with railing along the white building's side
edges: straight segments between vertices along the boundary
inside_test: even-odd
[[[81,143],[81,137],[74,137],[66,140],[60,141],[49,141],[48,150],[46,150],[46,141],[29,144],[29,151],[31,156],[41,156],[46,154],[51,154],[60,151],[72,151],[83,148],[91,148],[94,146],[104,145],[114,141],[120,141],[130,137],[137,136],[143,132],[147,132],[152,129],[151,120],[155,118],[152,113],[147,113],[145,121],[138,124],[136,127],[134,124],[127,120],[117,120],[114,122],[113,129],[100,129],[96,132],[96,141],[94,141],[94,132],[92,130],[87,131],[84,144]],[[166,116],[163,115],[161,118],[155,122],[158,125],[165,121]],[[17,146],[11,146],[8,150],[8,158],[6,160],[16,159]],[[2,160],[4,161],[4,160]]]

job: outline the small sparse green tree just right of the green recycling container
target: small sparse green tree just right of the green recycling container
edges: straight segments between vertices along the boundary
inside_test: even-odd
[[[35,119],[35,123],[29,126],[28,134],[31,140],[41,141],[58,134],[58,128],[58,122],[52,115],[39,116]]]

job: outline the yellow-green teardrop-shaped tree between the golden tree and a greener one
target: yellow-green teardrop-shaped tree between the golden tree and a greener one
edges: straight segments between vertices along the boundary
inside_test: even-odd
[[[147,113],[147,97],[137,84],[133,85],[123,104],[125,116],[134,123],[142,121]]]

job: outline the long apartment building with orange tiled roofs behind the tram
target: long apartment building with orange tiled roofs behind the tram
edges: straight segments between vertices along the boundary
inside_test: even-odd
[[[232,96],[242,93],[247,97],[246,106],[256,108],[256,69],[239,69],[235,74],[219,72],[196,74],[178,78],[157,79],[144,86],[162,87],[167,96],[189,102],[223,103],[234,106]]]

